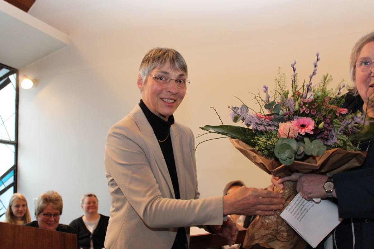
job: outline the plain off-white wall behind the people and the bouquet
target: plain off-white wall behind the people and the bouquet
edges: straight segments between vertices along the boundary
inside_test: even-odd
[[[136,3],[135,3],[136,2]],[[346,1],[345,1],[346,2]],[[105,137],[140,100],[136,86],[144,54],[157,46],[177,49],[187,61],[186,98],[175,113],[191,127],[231,124],[228,105],[251,101],[249,92],[271,89],[278,67],[287,76],[297,60],[308,79],[315,53],[318,74],[349,80],[349,54],[372,31],[371,1],[124,1],[37,0],[31,15],[69,34],[71,44],[21,68],[38,80],[19,94],[18,191],[29,202],[46,190],[64,199],[61,223],[82,215],[82,194],[95,193],[109,215],[104,175]],[[196,144],[212,138],[196,138]],[[267,187],[270,176],[252,165],[228,139],[196,151],[202,197],[222,194],[227,182]],[[32,210],[33,212],[33,210]]]

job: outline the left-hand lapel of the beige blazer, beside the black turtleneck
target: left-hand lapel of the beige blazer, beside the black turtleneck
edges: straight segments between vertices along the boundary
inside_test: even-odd
[[[145,117],[143,111],[141,110],[138,104],[135,106],[134,110],[132,110],[130,114],[137,123],[140,132],[144,136],[145,141],[148,143],[151,155],[154,157],[157,166],[162,172],[162,175],[164,176],[165,181],[168,184],[169,190],[173,198],[175,198],[173,184],[171,182],[168,166],[166,165],[159,142],[157,141],[156,135],[154,135],[151,125],[149,124],[147,118]]]

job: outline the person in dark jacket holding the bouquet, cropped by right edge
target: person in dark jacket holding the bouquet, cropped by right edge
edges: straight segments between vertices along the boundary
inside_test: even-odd
[[[374,118],[374,32],[363,36],[352,49],[350,73],[354,84],[347,93],[343,108],[361,111]],[[373,138],[372,138],[373,139]],[[371,139],[371,140],[372,140]],[[338,204],[339,217],[344,220],[333,233],[333,248],[366,249],[374,246],[374,143],[362,142],[368,151],[363,165],[336,173],[332,177],[293,173],[272,183],[283,189],[283,182],[297,181],[297,191],[307,200],[332,197]],[[321,244],[319,249],[324,248]]]

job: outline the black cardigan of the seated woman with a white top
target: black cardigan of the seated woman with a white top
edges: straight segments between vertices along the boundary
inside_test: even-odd
[[[83,216],[82,216],[83,217]],[[82,217],[74,219],[69,225],[77,230],[78,246],[83,249],[90,249],[91,239],[94,249],[101,249],[104,247],[105,234],[107,233],[109,217],[100,215],[97,227],[91,233],[83,222]]]

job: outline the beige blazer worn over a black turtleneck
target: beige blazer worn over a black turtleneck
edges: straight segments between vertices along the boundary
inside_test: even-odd
[[[137,104],[112,126],[105,146],[105,172],[111,195],[107,249],[167,249],[178,227],[221,225],[223,198],[199,199],[194,136],[186,126],[170,127],[180,200],[152,127]]]

